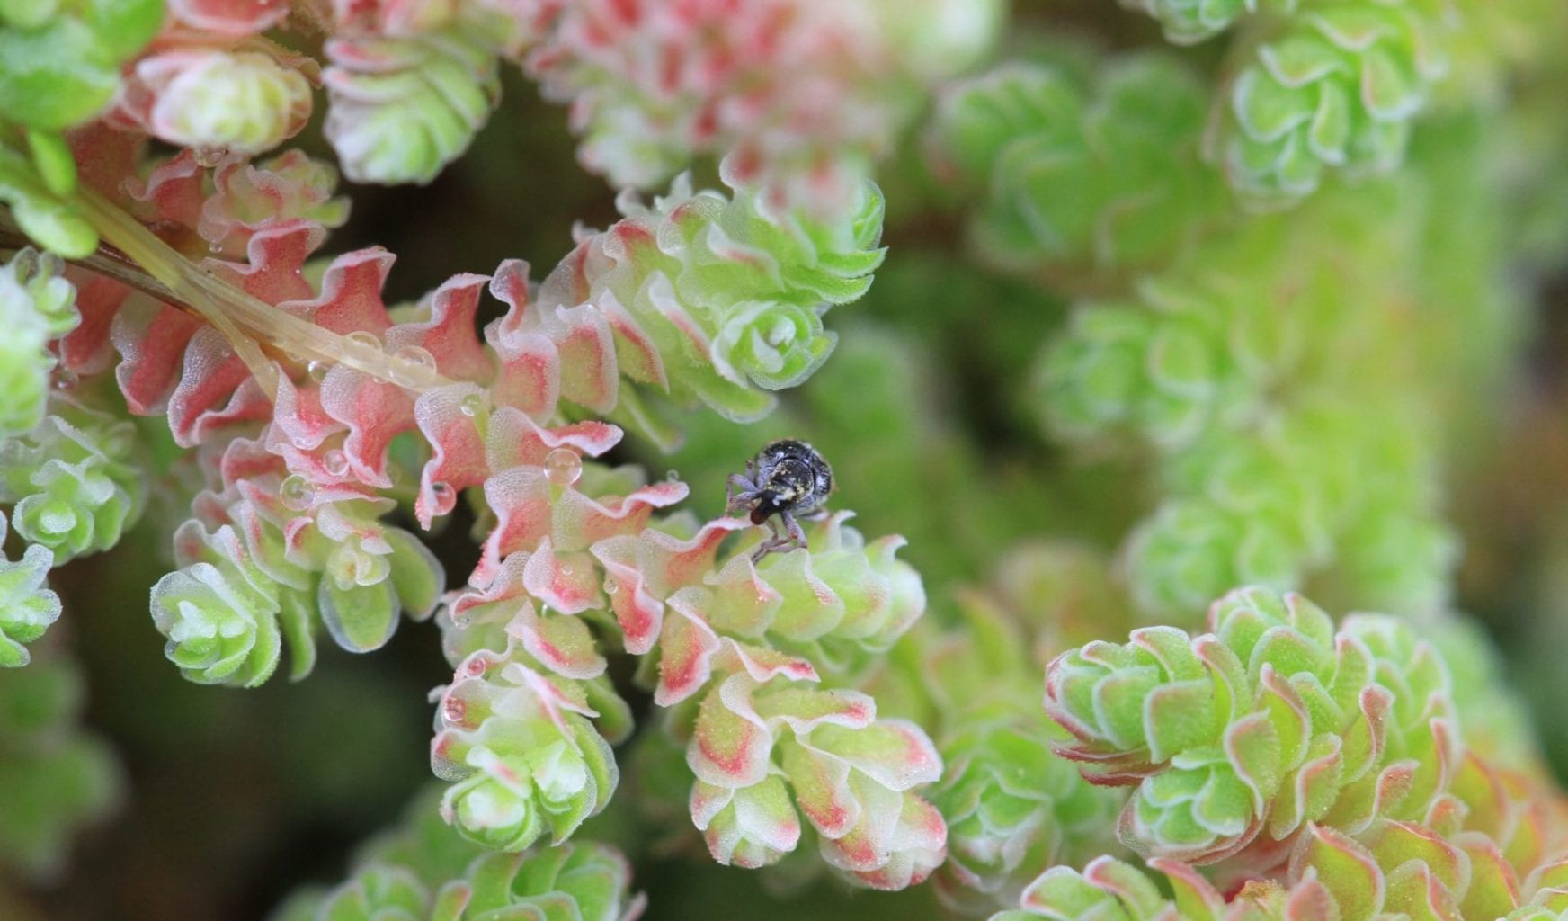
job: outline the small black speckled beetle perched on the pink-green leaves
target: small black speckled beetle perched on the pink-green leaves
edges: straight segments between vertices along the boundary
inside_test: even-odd
[[[757,544],[751,562],[773,551],[804,548],[806,532],[797,518],[817,516],[833,493],[833,468],[812,446],[786,438],[746,461],[745,474],[731,474],[724,490],[726,510],[746,511],[751,524],[778,515],[782,530]]]

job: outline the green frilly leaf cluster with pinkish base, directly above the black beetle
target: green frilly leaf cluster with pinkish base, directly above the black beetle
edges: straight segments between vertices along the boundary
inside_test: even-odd
[[[619,207],[624,220],[546,278],[538,309],[593,304],[627,340],[626,377],[732,419],[768,413],[767,391],[826,361],[836,336],[822,315],[866,293],[883,259],[872,184],[850,191],[834,220],[775,213],[739,188],[731,199],[693,193],[685,177],[651,206],[624,196]],[[615,406],[613,389],[585,397],[593,410]]]

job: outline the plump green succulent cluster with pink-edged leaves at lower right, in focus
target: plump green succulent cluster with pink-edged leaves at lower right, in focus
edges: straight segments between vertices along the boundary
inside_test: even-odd
[[[1123,839],[1209,863],[1308,822],[1422,821],[1458,759],[1447,670],[1403,623],[1333,620],[1297,595],[1240,590],[1209,629],[1134,631],[1052,662],[1063,755],[1132,784]]]

